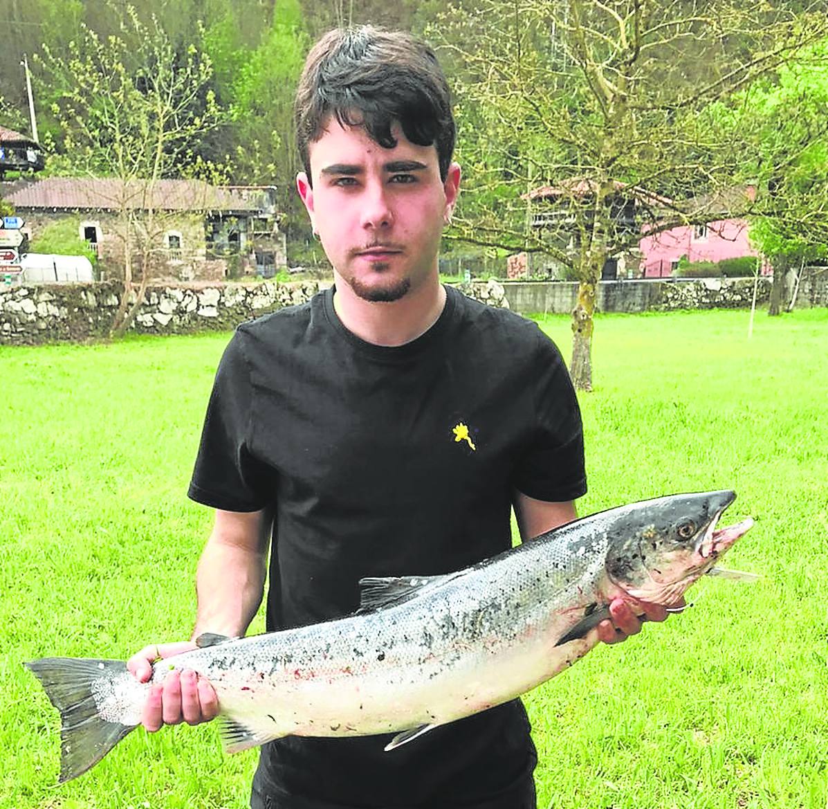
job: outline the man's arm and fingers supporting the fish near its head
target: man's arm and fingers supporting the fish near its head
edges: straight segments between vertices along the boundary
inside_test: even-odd
[[[575,503],[567,500],[561,503],[548,503],[545,500],[536,500],[522,492],[515,492],[513,498],[517,527],[523,542],[538,537],[542,533],[551,531],[567,522],[577,519]],[[667,618],[667,610],[661,604],[640,603],[641,614],[637,615],[623,600],[615,599],[609,604],[611,619],[598,624],[598,637],[604,643],[618,643],[629,635],[641,632],[644,620],[663,621]]]

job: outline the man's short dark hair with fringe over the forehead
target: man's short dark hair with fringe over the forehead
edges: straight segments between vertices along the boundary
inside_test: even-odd
[[[431,47],[403,31],[373,26],[329,31],[310,49],[296,89],[296,145],[310,179],[308,146],[334,116],[342,126],[364,127],[392,149],[391,125],[417,146],[434,146],[440,177],[455,149],[449,86]]]

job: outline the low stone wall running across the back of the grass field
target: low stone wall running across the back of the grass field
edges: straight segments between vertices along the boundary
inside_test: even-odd
[[[307,301],[330,282],[190,283],[147,289],[132,331],[138,334],[183,334],[200,330],[229,330],[282,306]],[[575,306],[577,284],[568,282],[471,282],[459,287],[489,306],[504,306],[522,314],[569,314]],[[84,340],[108,335],[123,287],[119,282],[92,284],[32,284],[0,287],[0,344],[37,344],[55,340]],[[759,280],[758,302],[768,301],[770,280]],[[753,279],[704,278],[696,281],[601,282],[598,310],[747,308]],[[817,269],[803,277],[800,306],[828,306],[828,271]]]

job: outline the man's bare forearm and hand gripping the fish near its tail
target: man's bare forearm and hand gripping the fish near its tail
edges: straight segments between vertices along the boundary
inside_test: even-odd
[[[217,510],[213,530],[196,574],[198,612],[193,640],[142,648],[127,666],[138,680],[152,674],[152,662],[195,648],[195,638],[212,632],[241,636],[262,602],[272,513]],[[163,685],[152,686],[142,711],[142,724],[154,731],[182,721],[198,725],[214,718],[219,704],[213,687],[195,672],[173,672]]]

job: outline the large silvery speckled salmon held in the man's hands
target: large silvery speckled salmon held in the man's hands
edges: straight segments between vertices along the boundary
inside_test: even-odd
[[[230,752],[288,734],[396,733],[392,754],[570,667],[598,643],[611,600],[676,604],[753,524],[716,527],[734,498],[633,503],[455,573],[364,579],[356,614],[249,638],[205,635],[200,648],[156,662],[152,682],[184,668],[208,678]],[[140,723],[149,684],[124,662],[46,657],[26,666],[60,710],[60,782]]]

